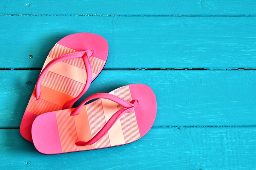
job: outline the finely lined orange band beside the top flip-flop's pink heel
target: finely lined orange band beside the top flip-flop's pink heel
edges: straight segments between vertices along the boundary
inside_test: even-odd
[[[76,146],[77,134],[75,120],[70,116],[72,109],[56,111],[57,124],[59,129],[60,143],[62,152],[79,151],[79,146]]]

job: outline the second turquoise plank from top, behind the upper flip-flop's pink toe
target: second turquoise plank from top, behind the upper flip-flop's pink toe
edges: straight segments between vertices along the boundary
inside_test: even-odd
[[[0,68],[41,68],[53,45],[76,32],[106,38],[106,69],[256,68],[256,17],[0,19]]]

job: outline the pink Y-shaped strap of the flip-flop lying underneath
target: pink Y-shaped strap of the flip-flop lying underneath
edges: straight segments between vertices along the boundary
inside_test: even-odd
[[[74,105],[74,103],[80,99],[80,97],[88,90],[91,81],[92,81],[92,66],[91,66],[91,62],[89,60],[89,57],[92,56],[93,51],[91,50],[86,50],[86,51],[78,51],[78,52],[72,52],[72,53],[68,53],[68,54],[64,54],[61,55],[59,57],[54,58],[52,61],[50,61],[46,67],[42,70],[41,74],[39,75],[39,78],[36,82],[36,100],[39,99],[41,90],[40,90],[40,81],[42,80],[43,75],[45,75],[46,71],[48,69],[50,69],[50,67],[52,67],[54,64],[67,60],[67,59],[72,59],[72,58],[83,58],[83,63],[85,64],[85,69],[86,69],[86,83],[85,83],[85,87],[83,88],[82,92],[76,96],[74,99],[69,100],[68,102],[66,102],[63,105],[62,109],[66,109],[69,106]]]

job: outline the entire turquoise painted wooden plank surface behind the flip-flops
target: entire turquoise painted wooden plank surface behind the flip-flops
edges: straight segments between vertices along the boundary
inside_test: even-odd
[[[42,155],[19,125],[48,52],[77,32],[109,43],[77,103],[144,83],[157,117],[128,145]],[[256,169],[255,0],[1,0],[0,43],[0,169]]]

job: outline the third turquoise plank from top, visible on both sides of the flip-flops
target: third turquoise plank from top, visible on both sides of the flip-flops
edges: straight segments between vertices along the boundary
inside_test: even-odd
[[[39,72],[0,71],[1,127],[19,127]],[[155,92],[154,126],[256,125],[256,70],[103,70],[77,103],[132,83]]]

